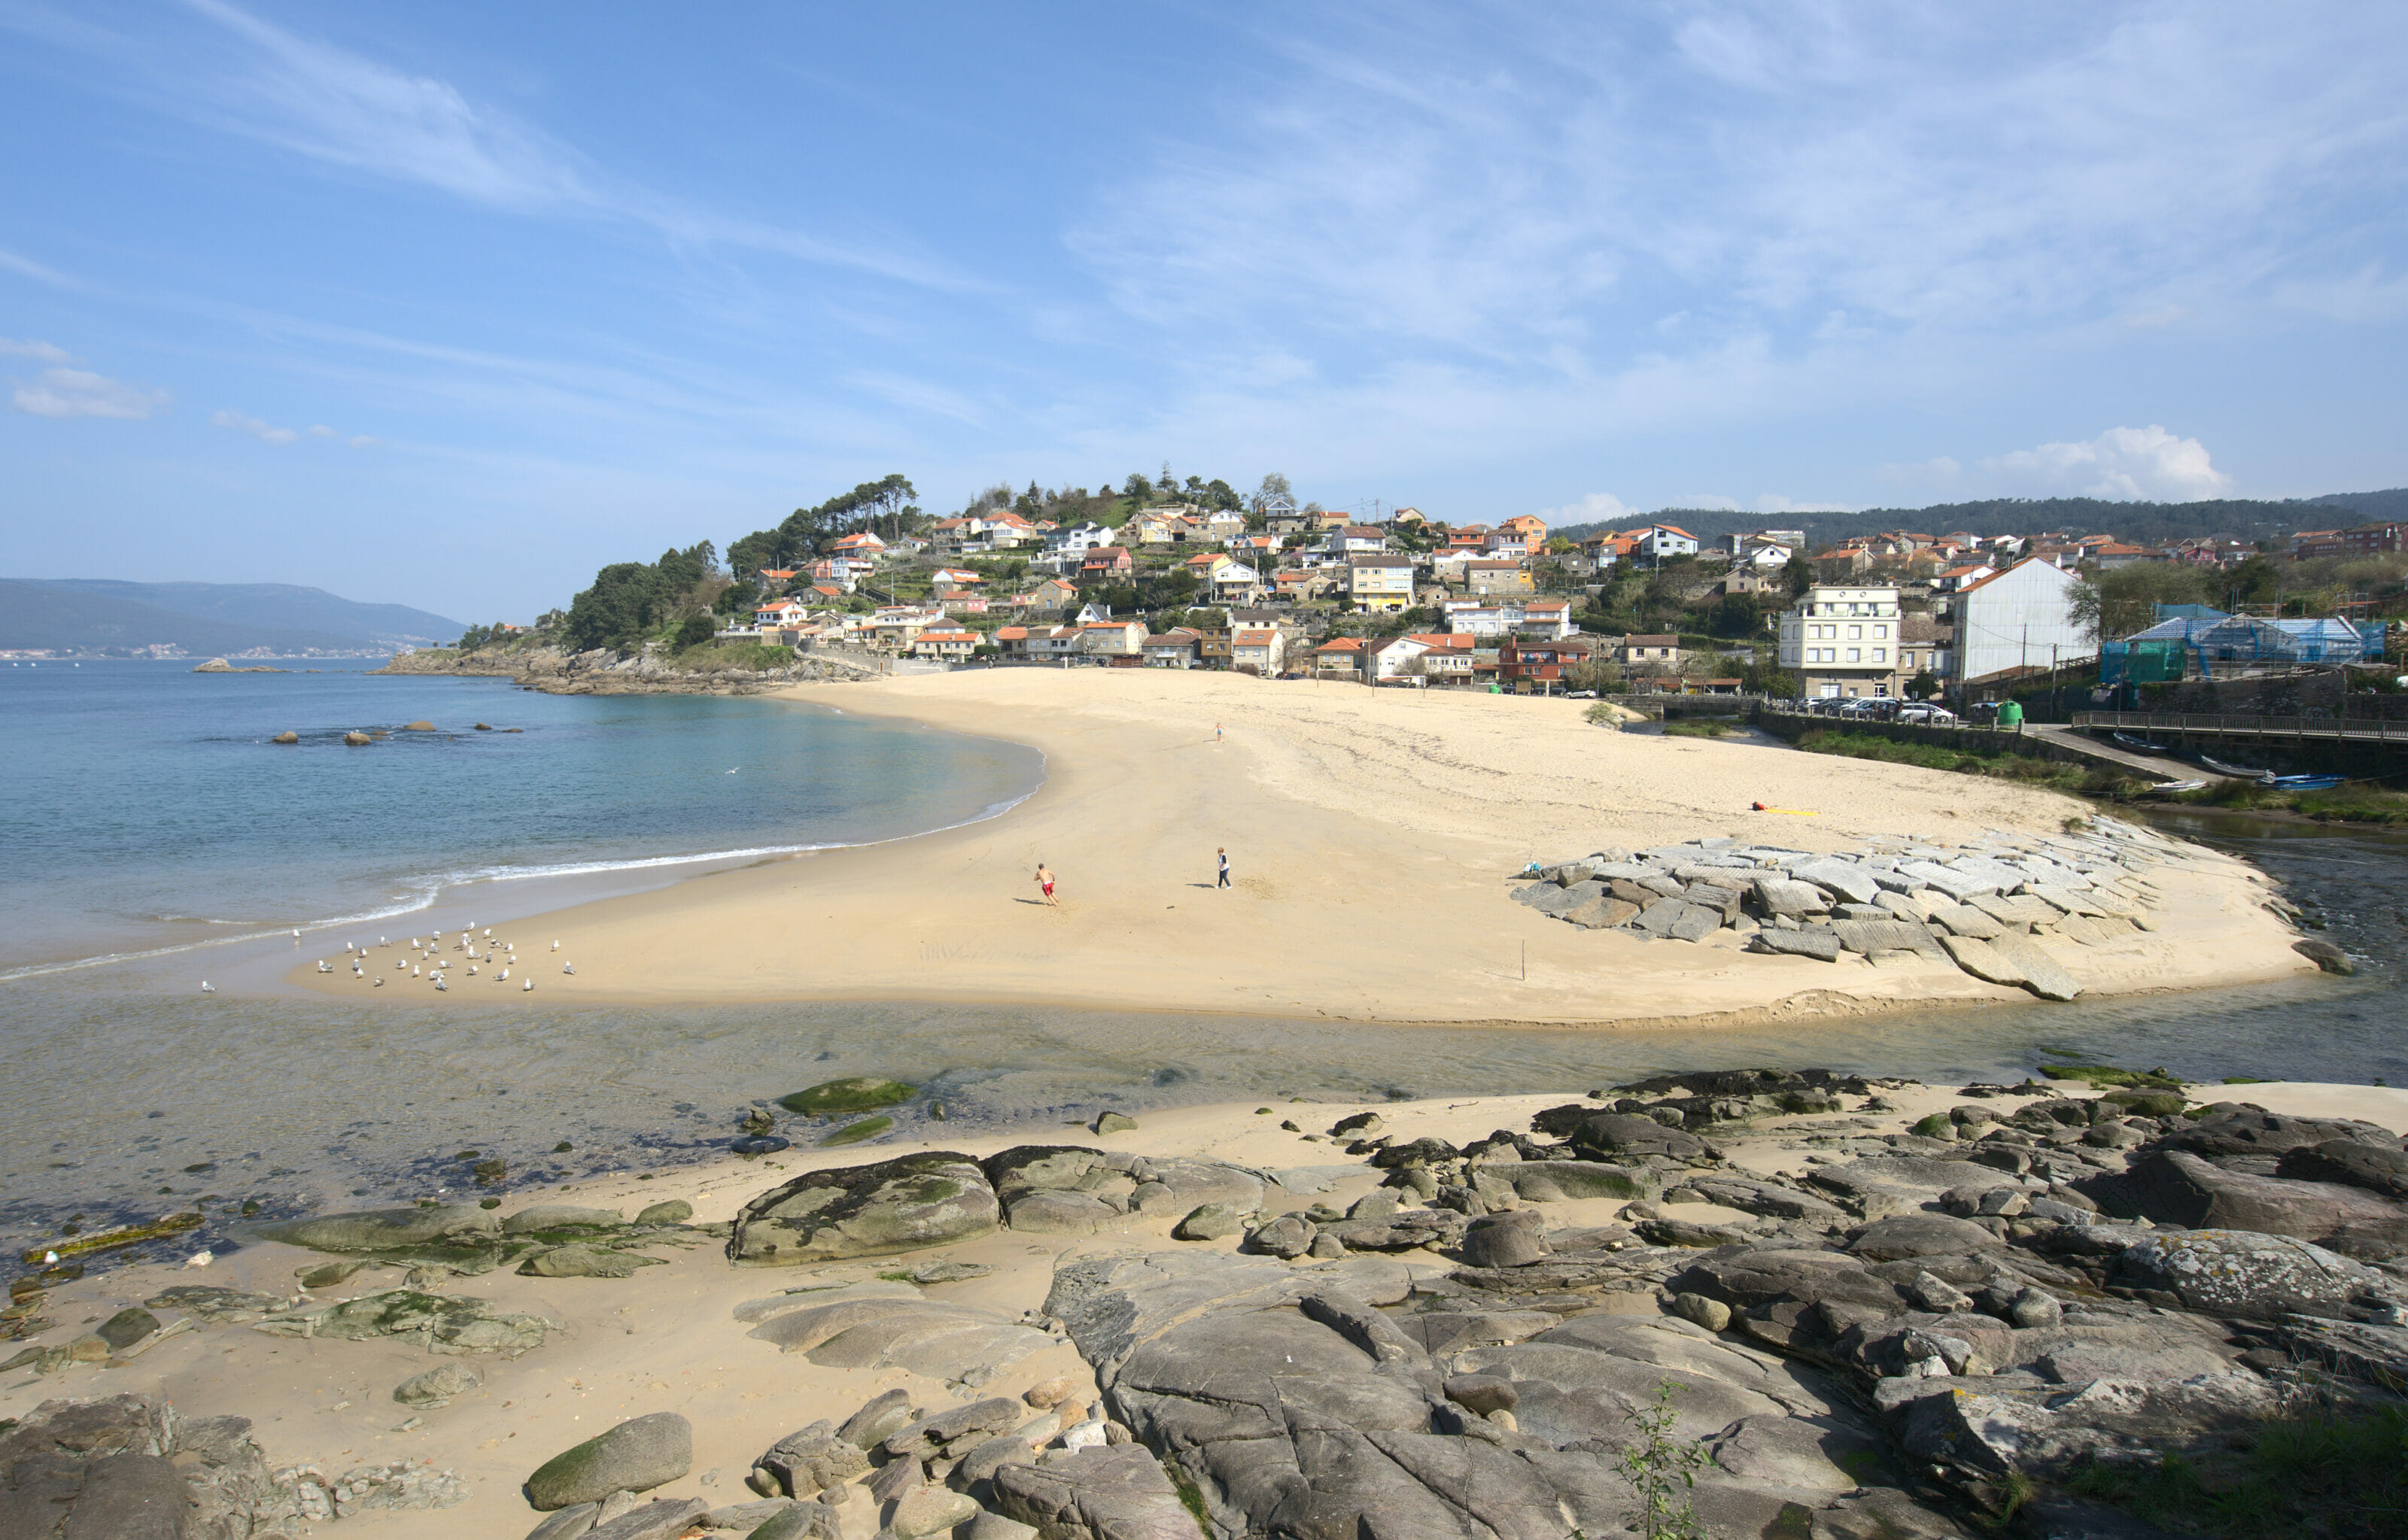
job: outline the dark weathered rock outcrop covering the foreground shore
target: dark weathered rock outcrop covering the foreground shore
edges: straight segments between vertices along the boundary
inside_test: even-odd
[[[2013,1514],[2028,1533],[2126,1535],[2083,1477],[2177,1453],[2213,1470],[2268,1420],[2408,1405],[2408,1141],[2133,1080],[1943,1097],[1710,1071],[1459,1145],[1358,1112],[1310,1136],[1341,1165],[1298,1169],[1062,1143],[807,1172],[727,1225],[684,1203],[327,1215],[277,1232],[340,1258],[303,1268],[301,1295],[169,1290],[147,1304],[176,1323],[125,1311],[58,1372],[195,1321],[417,1331],[448,1357],[393,1396],[433,1410],[547,1323],[417,1290],[510,1261],[628,1278],[580,1258],[720,1242],[749,1275],[795,1283],[734,1304],[708,1362],[742,1335],[850,1393],[766,1446],[701,1451],[749,1458],[754,1502],[655,1494],[698,1463],[696,1429],[619,1422],[525,1475],[530,1540],[1560,1540],[1628,1526],[1630,1458],[1649,1449],[1695,1461],[1683,1502],[1714,1535],[1936,1540]],[[1784,1153],[1796,1169],[1767,1169]],[[1175,1218],[1178,1239],[1062,1246],[1134,1218]],[[1062,1261],[1043,1304],[934,1292],[997,1266],[913,1254],[980,1237],[1047,1237]],[[405,1290],[308,1302],[397,1266]],[[1060,1348],[1081,1374],[1055,1372]],[[1649,1441],[1659,1396],[1671,1424]],[[176,1497],[205,1533],[265,1540],[364,1506],[450,1506],[465,1485],[426,1463],[277,1470],[238,1417],[178,1427],[137,1396],[51,1400],[0,1429],[0,1533],[116,1533],[113,1514]]]

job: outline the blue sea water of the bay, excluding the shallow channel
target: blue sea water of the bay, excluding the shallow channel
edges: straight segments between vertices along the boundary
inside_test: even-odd
[[[371,667],[0,664],[0,979],[407,924],[438,902],[498,919],[559,878],[624,888],[696,857],[966,823],[1043,775],[1014,744],[775,700],[539,695]],[[352,748],[352,729],[388,736]],[[301,744],[272,744],[282,732]]]

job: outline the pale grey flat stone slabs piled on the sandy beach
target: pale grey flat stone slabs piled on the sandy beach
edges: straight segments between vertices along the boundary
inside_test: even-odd
[[[1589,931],[1705,941],[1731,929],[1751,953],[1873,967],[1948,960],[1989,984],[2068,1001],[2081,984],[2047,943],[2090,948],[2160,929],[2150,873],[2182,854],[2117,818],[2040,837],[1989,830],[1970,845],[1871,837],[1842,852],[1714,837],[1534,866],[1524,876],[1536,881],[1512,898]],[[2321,955],[2333,948],[2309,946],[2300,950],[2333,967]]]

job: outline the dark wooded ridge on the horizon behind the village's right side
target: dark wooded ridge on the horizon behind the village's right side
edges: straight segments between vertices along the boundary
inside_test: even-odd
[[[1922,534],[2114,534],[2133,546],[2191,537],[2280,539],[2292,529],[2408,517],[2408,488],[2336,491],[2297,500],[2109,503],[2107,498],[1991,498],[1931,508],[1866,508],[1864,513],[1731,513],[1727,508],[1659,508],[1613,525],[1565,525],[1553,534],[1580,539],[1599,529],[1678,525],[1700,541],[1755,529],[1804,529],[1816,551],[1857,534],[1917,529]]]

